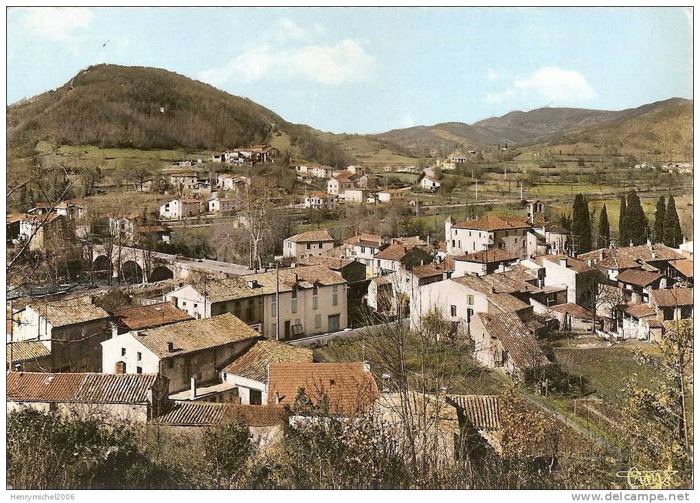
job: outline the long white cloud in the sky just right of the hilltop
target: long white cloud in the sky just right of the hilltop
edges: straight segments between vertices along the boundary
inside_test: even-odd
[[[255,82],[267,77],[341,85],[370,78],[376,64],[363,43],[352,39],[335,45],[297,48],[262,45],[241,52],[224,66],[200,72],[198,78],[211,85],[223,85],[230,80]]]

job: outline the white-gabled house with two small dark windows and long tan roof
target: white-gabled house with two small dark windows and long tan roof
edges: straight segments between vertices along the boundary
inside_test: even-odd
[[[200,383],[218,382],[217,369],[258,339],[258,332],[230,313],[133,330],[102,342],[102,368],[109,374],[159,374],[168,379],[171,394],[196,392]]]

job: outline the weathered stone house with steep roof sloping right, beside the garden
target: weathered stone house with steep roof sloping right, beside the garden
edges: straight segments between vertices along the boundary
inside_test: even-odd
[[[477,313],[470,339],[477,362],[502,367],[514,381],[530,381],[533,371],[551,364],[517,313]]]

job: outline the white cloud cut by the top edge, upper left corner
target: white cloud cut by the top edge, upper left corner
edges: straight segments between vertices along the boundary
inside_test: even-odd
[[[88,8],[36,7],[25,10],[22,24],[34,34],[62,41],[76,29],[89,27],[94,17],[94,12]]]

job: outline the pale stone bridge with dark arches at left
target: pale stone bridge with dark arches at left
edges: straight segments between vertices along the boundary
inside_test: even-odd
[[[253,272],[241,264],[195,259],[129,246],[94,246],[91,260],[94,274],[103,277],[111,275],[112,278],[122,278],[131,284],[171,278],[200,281],[205,277],[230,278]]]

